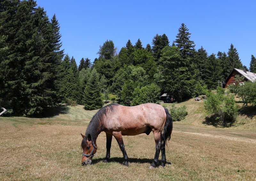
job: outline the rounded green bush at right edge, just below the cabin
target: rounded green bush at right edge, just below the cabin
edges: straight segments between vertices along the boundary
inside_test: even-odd
[[[237,93],[241,97],[244,103],[255,105],[256,104],[256,83],[245,82],[244,86],[241,86],[240,91]]]

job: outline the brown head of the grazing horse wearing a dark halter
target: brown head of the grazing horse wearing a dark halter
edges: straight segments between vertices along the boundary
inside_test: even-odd
[[[88,136],[84,136],[81,133],[83,140],[81,143],[81,147],[83,148],[83,154],[82,154],[82,165],[90,165],[92,163],[92,157],[97,151],[97,145],[95,142],[93,142],[92,137],[90,134]]]

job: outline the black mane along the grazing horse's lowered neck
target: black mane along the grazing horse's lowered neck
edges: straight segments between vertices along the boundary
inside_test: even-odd
[[[102,131],[102,127],[101,127],[101,120],[103,118],[104,115],[107,115],[108,110],[109,111],[113,111],[113,105],[119,105],[116,103],[111,103],[109,105],[106,105],[104,107],[102,107],[93,117],[92,120],[90,121],[86,131],[85,131],[85,135],[84,138],[82,140],[81,143],[81,147],[84,148],[86,145],[86,140],[88,137],[88,134],[91,135],[92,137],[92,141],[95,141],[98,137],[98,135],[100,134],[100,132]],[[108,109],[109,108],[109,109]]]

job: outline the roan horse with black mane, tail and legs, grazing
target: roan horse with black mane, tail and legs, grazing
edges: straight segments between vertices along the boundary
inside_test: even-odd
[[[90,121],[81,147],[83,148],[82,165],[92,163],[92,157],[97,151],[96,139],[104,131],[107,137],[107,154],[103,162],[110,158],[110,147],[112,136],[116,138],[118,145],[124,155],[124,165],[128,166],[128,156],[124,148],[122,135],[150,134],[152,131],[156,142],[156,154],[149,168],[158,164],[160,150],[162,152],[162,167],[165,166],[165,143],[170,140],[172,134],[172,117],[168,110],[161,105],[147,103],[137,106],[123,106],[110,104],[102,107]]]

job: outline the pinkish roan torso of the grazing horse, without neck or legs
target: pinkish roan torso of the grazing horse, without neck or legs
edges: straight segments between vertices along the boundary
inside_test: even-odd
[[[161,105],[146,103],[137,106],[115,105],[104,120],[105,132],[122,132],[123,135],[149,134],[162,131],[166,113]]]

